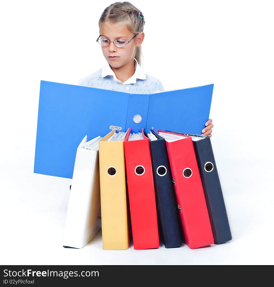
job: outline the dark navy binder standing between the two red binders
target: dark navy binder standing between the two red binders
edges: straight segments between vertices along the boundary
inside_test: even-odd
[[[166,248],[180,247],[182,239],[179,229],[177,200],[172,183],[166,143],[163,137],[153,130],[151,132],[158,139],[157,141],[149,141],[149,146],[163,242]]]

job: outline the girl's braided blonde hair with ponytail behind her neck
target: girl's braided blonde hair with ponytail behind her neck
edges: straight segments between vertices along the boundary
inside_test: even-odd
[[[100,23],[104,23],[106,21],[111,21],[113,23],[129,21],[130,25],[128,29],[135,35],[139,32],[143,32],[144,29],[144,16],[142,18],[139,17],[140,10],[132,5],[130,2],[115,2],[110,6],[106,7],[104,12],[102,13],[99,19],[99,30]],[[141,46],[135,47],[135,55],[134,58],[137,60],[139,65],[141,65]]]

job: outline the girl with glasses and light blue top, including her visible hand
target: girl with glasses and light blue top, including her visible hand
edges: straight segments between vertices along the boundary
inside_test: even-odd
[[[130,2],[106,7],[99,19],[100,35],[96,40],[106,58],[105,66],[81,79],[78,85],[136,94],[163,92],[162,83],[140,67],[144,23],[142,12]],[[212,120],[205,126],[202,135],[211,137]]]

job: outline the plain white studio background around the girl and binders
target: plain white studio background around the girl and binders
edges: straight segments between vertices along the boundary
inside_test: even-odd
[[[33,173],[40,80],[77,84],[103,66],[95,40],[111,2],[3,2],[0,264],[273,264],[271,2],[132,2],[144,14],[147,74],[166,90],[214,83],[211,142],[233,240],[125,251],[102,250],[100,233],[64,249],[71,179]]]

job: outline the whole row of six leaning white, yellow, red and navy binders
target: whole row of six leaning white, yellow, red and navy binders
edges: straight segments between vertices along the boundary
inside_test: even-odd
[[[86,140],[77,149],[64,246],[82,248],[101,220],[105,250],[128,249],[130,230],[134,249],[158,248],[159,235],[166,248],[232,239],[210,137],[128,128]]]

